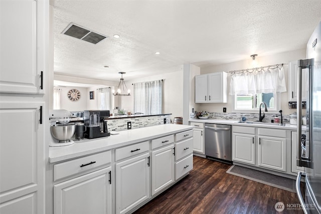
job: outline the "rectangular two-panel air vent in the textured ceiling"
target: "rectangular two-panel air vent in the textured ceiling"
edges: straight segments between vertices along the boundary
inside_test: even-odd
[[[62,34],[75,37],[77,39],[81,39],[93,44],[97,44],[103,39],[107,38],[107,36],[103,36],[97,33],[94,33],[88,29],[80,27],[74,23],[70,23],[67,28],[62,32]]]

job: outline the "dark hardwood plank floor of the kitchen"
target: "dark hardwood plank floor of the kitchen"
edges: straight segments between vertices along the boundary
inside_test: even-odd
[[[226,173],[231,165],[194,156],[190,174],[134,213],[303,213],[296,193]],[[276,202],[285,204],[282,212]]]

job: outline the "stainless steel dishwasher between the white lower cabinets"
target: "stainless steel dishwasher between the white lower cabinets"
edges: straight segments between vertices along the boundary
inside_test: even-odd
[[[231,126],[205,123],[205,155],[232,163]]]

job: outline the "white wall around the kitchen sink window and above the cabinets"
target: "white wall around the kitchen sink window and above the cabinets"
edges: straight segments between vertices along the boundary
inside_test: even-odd
[[[305,49],[273,54],[269,56],[257,57],[258,67],[274,65],[274,64],[282,64],[282,63],[287,64],[291,61],[295,61],[298,59],[305,59]],[[228,64],[201,68],[201,74],[214,73],[214,72],[220,72],[220,71],[229,72],[233,70],[252,68],[251,63],[252,63],[252,59],[249,57],[249,60],[243,60],[243,61],[238,61],[238,62],[233,62]],[[284,74],[285,74],[286,89],[288,90],[288,65],[284,65],[283,68],[284,68]],[[228,75],[228,80],[227,80],[228,93],[230,88],[230,78],[231,76]],[[197,110],[198,111],[204,110],[208,112],[223,112],[223,107],[227,107],[227,112],[232,112],[232,108],[233,108],[232,105],[233,105],[233,96],[228,95],[227,103],[213,103],[213,104],[203,103],[203,104],[199,104]],[[283,110],[284,114],[290,114],[296,111],[296,109],[288,108],[288,92],[281,93],[280,109]]]

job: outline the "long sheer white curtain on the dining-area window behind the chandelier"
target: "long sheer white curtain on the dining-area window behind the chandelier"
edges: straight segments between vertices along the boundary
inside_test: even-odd
[[[163,113],[163,80],[133,84],[134,112]]]

